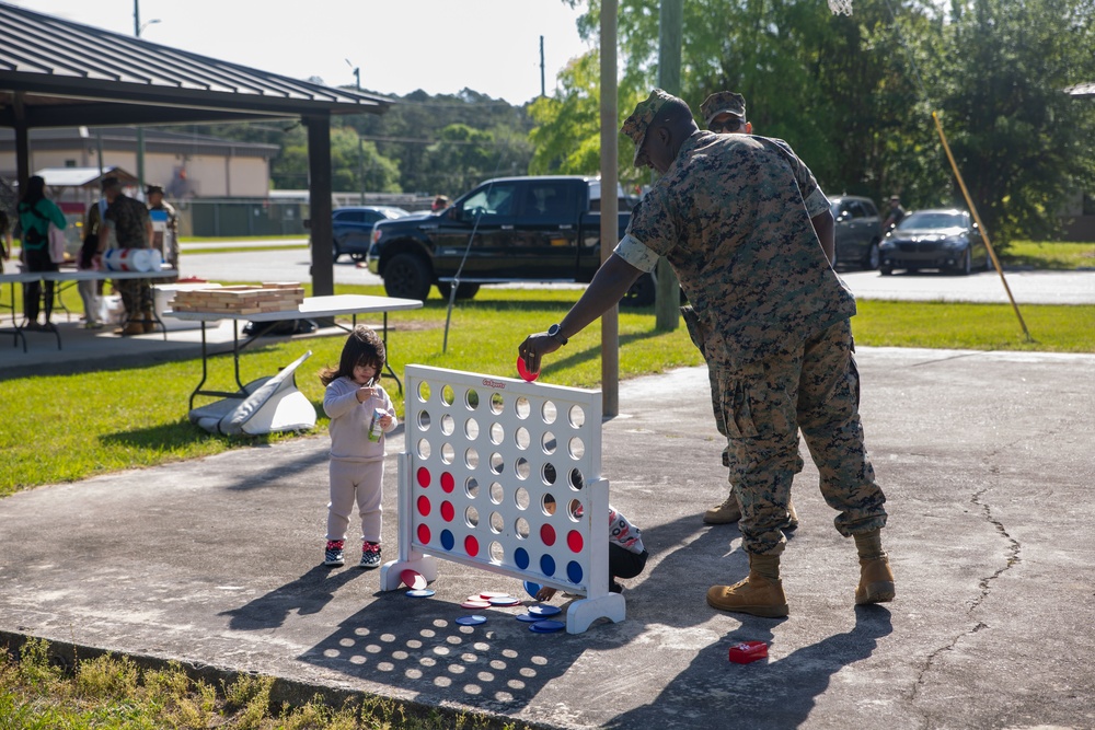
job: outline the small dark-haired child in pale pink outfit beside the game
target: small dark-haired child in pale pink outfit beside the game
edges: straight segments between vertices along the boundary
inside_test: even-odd
[[[384,480],[384,434],[399,421],[380,386],[384,344],[377,333],[358,326],[343,346],[337,368],[325,368],[323,410],[331,418],[331,502],[324,565],[344,564],[346,530],[357,503],[361,517],[360,568],[380,566],[380,500]]]

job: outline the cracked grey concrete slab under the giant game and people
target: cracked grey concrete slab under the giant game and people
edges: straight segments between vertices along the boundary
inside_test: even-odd
[[[746,557],[736,526],[700,521],[726,487],[706,373],[684,369],[623,383],[623,414],[603,427],[612,501],[652,553],[623,581],[620,624],[535,635],[496,609],[463,627],[464,596],[520,584],[442,561],[437,594],[410,599],[379,593],[374,571],[320,567],[318,434],[0,500],[0,631],[499,726],[1095,727],[1095,357],[863,348],[858,364],[889,499],[890,604],[853,606],[854,548],[811,464],[795,482],[802,528],[783,560],[791,616],[705,604]],[[389,451],[402,449],[397,434]],[[391,558],[392,456],[388,466]],[[727,661],[753,639],[771,644],[766,661]]]

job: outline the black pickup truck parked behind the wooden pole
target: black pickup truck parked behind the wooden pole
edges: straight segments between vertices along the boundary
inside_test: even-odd
[[[634,200],[620,197],[627,228]],[[368,267],[390,297],[425,300],[431,285],[448,297],[470,299],[483,283],[589,282],[601,263],[600,182],[544,176],[491,179],[449,208],[423,217],[379,221]],[[462,268],[461,268],[462,266]],[[624,303],[654,302],[654,279],[644,275]]]

